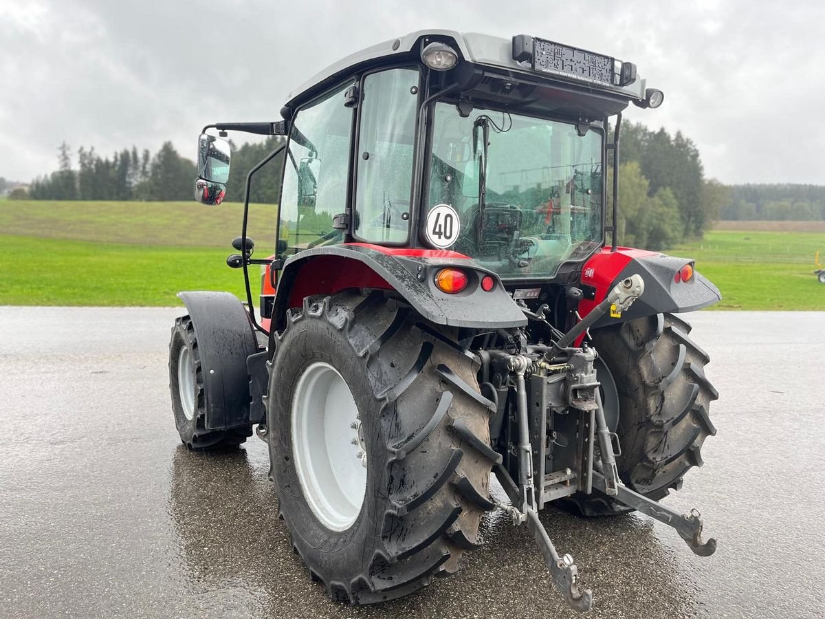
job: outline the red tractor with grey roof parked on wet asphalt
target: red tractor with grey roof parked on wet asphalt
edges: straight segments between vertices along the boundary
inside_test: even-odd
[[[530,527],[582,611],[592,593],[538,517],[550,503],[639,510],[714,551],[698,512],[658,500],[715,433],[709,359],[676,314],[720,296],[689,259],[616,245],[606,168],[629,103],[662,103],[632,63],[419,31],[319,73],[282,120],[205,127],[206,204],[224,198],[225,131],[285,136],[246,187],[248,209],[253,174],[280,165],[280,215],[276,253],[252,258],[244,210],[228,262],[246,305],[180,294],[177,429],[210,449],[257,426],[278,513],[333,599],[380,602],[454,573],[497,508]],[[265,268],[259,310],[250,265]]]

